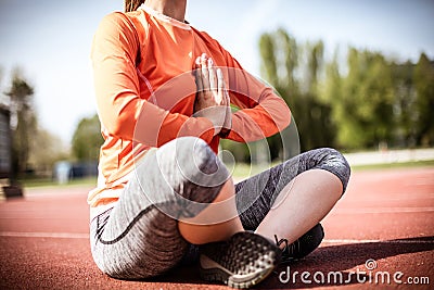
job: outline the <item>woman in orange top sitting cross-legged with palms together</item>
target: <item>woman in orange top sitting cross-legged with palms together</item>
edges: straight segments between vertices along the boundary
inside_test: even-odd
[[[88,197],[93,259],[112,277],[140,279],[200,249],[205,280],[248,288],[319,245],[348,164],[319,149],[234,186],[219,140],[271,136],[290,110],[184,21],[187,0],[142,2],[104,17],[92,47],[105,140]]]

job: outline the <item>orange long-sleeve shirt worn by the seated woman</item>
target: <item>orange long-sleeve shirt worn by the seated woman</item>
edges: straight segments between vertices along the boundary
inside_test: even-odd
[[[291,115],[284,101],[240,64],[216,40],[187,23],[144,5],[136,12],[105,16],[94,36],[91,60],[101,147],[98,187],[89,192],[91,215],[113,206],[145,154],[179,136],[196,136],[217,152],[213,123],[193,116],[195,58],[206,53],[222,67],[231,103],[227,137],[253,141],[282,130]]]

